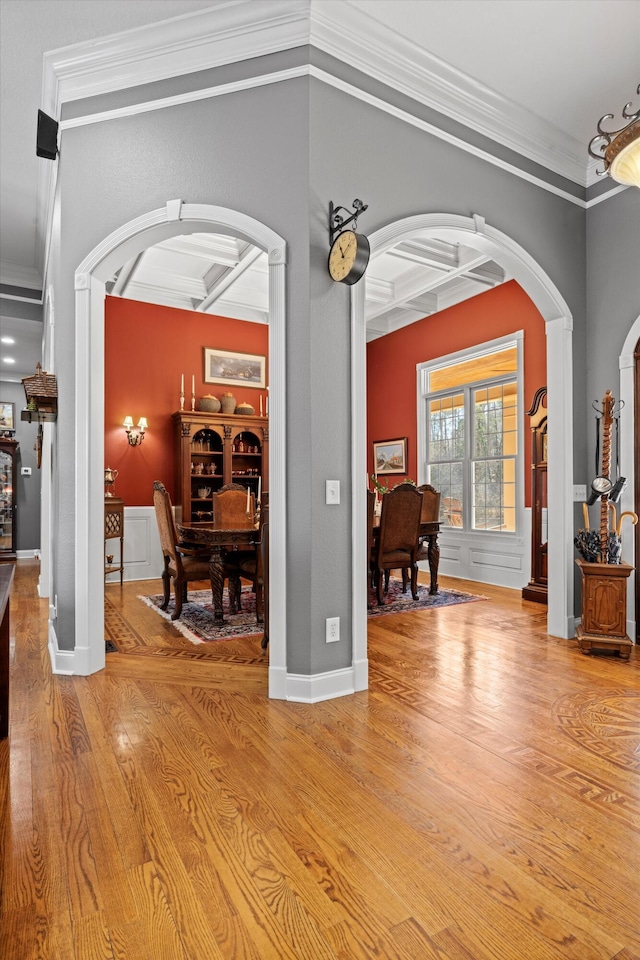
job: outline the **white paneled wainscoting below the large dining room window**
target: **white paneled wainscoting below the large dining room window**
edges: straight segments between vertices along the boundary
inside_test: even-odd
[[[521,590],[531,576],[531,509],[524,511],[522,536],[499,537],[489,534],[440,531],[439,574],[478,583]],[[428,570],[426,562],[420,564]]]

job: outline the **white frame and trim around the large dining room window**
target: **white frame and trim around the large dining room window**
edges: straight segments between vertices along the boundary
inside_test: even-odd
[[[471,471],[465,466],[463,473],[463,516],[467,527],[442,527],[440,536],[470,537],[476,542],[482,541],[489,545],[495,543],[496,538],[500,541],[514,540],[520,541],[523,538],[525,529],[525,509],[524,509],[524,444],[528,440],[528,434],[525,430],[524,422],[524,331],[518,330],[506,337],[498,337],[495,340],[489,340],[474,347],[468,347],[465,350],[458,350],[455,353],[449,353],[446,356],[436,357],[433,360],[427,360],[424,363],[416,365],[417,372],[417,424],[418,424],[418,483],[427,483],[428,464],[427,464],[427,400],[436,396],[450,396],[453,393],[464,393],[465,397],[470,389],[476,384],[465,384],[459,387],[442,390],[429,390],[429,374],[435,370],[441,370],[443,367],[453,366],[466,360],[475,360],[487,356],[491,353],[497,353],[508,347],[516,348],[517,370],[515,375],[509,376],[509,380],[516,381],[516,396],[518,409],[518,437],[517,453],[515,457],[515,479],[516,479],[516,510],[515,510],[515,531],[486,531],[474,530],[470,525],[471,520]],[[479,383],[503,383],[504,376],[495,377],[494,380],[482,380]],[[466,402],[466,401],[465,401]],[[465,465],[473,460],[471,456],[472,430],[465,430]]]

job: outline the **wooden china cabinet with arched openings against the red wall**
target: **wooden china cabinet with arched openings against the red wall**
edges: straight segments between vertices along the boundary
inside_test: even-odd
[[[268,490],[269,419],[206,413],[173,414],[176,441],[175,507],[179,523],[213,519],[213,496],[227,483]]]

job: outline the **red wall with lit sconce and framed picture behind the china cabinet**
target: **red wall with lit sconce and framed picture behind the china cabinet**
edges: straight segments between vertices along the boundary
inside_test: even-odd
[[[174,493],[175,439],[171,414],[180,408],[180,377],[185,380],[185,410],[191,409],[191,376],[196,404],[203,394],[231,390],[238,403],[256,410],[266,390],[204,383],[203,348],[216,347],[267,356],[267,324],[192,313],[153,303],[107,297],[105,304],[104,462],[119,471],[116,496],[127,506],[153,503],[153,481]],[[267,379],[268,382],[268,379]],[[122,423],[146,417],[144,441],[131,447]]]

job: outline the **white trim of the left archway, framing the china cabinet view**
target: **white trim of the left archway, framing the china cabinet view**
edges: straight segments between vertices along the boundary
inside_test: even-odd
[[[194,231],[240,236],[269,261],[271,547],[269,696],[286,696],[286,340],[284,240],[258,220],[208,204],[166,206],[124,224],[82,261],[76,289],[75,649],[52,649],[54,671],[88,675],[104,667],[104,299],[123,262],[160,240]]]

